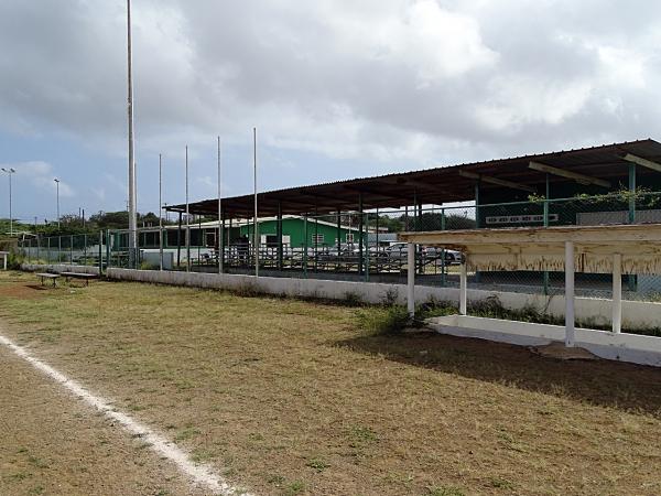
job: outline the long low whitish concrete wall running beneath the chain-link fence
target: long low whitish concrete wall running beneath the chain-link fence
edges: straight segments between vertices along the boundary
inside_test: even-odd
[[[69,268],[69,266],[64,266]],[[158,270],[129,270],[110,268],[110,279],[141,281],[161,284],[187,285],[194,288],[254,290],[267,294],[286,294],[290,296],[314,296],[345,300],[358,296],[366,303],[382,303],[387,300],[405,304],[407,287],[376,282],[332,281],[322,279],[290,279],[217,274],[198,272],[170,272]],[[564,317],[564,296],[543,296],[537,294],[508,293],[500,291],[468,290],[468,301],[480,301],[496,296],[509,310],[534,308],[559,319]],[[416,303],[431,299],[437,301],[458,301],[458,289],[415,287]],[[609,325],[610,300],[577,298],[576,319],[589,325]],[[587,325],[587,324],[586,324]],[[650,328],[661,325],[661,303],[624,301],[622,326],[625,328]]]

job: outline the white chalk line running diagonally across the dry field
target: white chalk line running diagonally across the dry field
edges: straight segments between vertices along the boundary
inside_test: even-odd
[[[4,337],[0,334],[0,343],[10,348],[18,356],[30,363],[34,368],[41,370],[46,376],[59,382],[71,392],[76,395],[78,399],[82,399],[86,403],[96,408],[100,412],[102,412],[107,418],[119,422],[127,431],[136,436],[139,436],[143,441],[150,444],[150,449],[156,452],[159,455],[166,457],[174,462],[176,466],[196,485],[206,486],[212,489],[214,493],[221,495],[238,495],[242,494],[248,496],[248,493],[241,492],[238,487],[229,485],[223,477],[216,475],[213,470],[205,464],[195,464],[189,459],[188,455],[177,448],[171,441],[147,425],[137,422],[131,417],[122,413],[120,411],[116,411],[110,403],[101,397],[94,396],[83,386],[80,386],[75,380],[69,379],[64,374],[58,373],[50,365],[41,362],[40,359],[30,355],[25,348],[14,344],[11,339]]]

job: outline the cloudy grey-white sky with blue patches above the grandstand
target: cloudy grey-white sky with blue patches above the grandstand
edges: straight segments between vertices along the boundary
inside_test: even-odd
[[[660,139],[661,2],[133,0],[138,209]],[[126,1],[0,2],[13,217],[127,204]],[[9,216],[0,176],[0,217]]]

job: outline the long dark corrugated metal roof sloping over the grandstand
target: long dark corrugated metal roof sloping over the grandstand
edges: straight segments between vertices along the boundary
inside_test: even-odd
[[[475,180],[460,176],[459,171],[540,188],[545,184],[545,174],[529,169],[530,161],[595,177],[622,180],[627,177],[625,165],[629,162],[622,159],[627,153],[661,163],[661,143],[652,139],[627,141],[262,192],[258,194],[259,215],[277,215],[279,207],[282,214],[356,211],[359,198],[364,208],[401,207],[414,203],[440,205],[474,200]],[[643,175],[653,173],[640,169]],[[553,181],[570,180],[554,176]],[[487,192],[499,187],[502,186],[480,185]],[[189,212],[215,215],[217,205],[218,198],[195,202],[189,204]],[[253,195],[223,198],[223,208],[228,218],[249,217],[252,215]],[[171,205],[167,209],[182,212],[185,204]]]

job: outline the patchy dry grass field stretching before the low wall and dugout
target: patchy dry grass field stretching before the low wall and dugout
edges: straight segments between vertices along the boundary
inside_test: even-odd
[[[1,273],[8,337],[252,493],[661,494],[659,369],[360,328],[360,312],[382,309],[138,283],[34,284],[32,274]],[[6,386],[15,367],[3,370]],[[2,406],[23,408],[15,389],[0,389]],[[34,445],[46,429],[37,412],[25,407],[7,425],[14,441],[13,452],[0,450],[0,493],[67,494],[57,490],[54,467],[67,461],[55,441],[51,451],[30,448],[48,471],[25,468],[17,454],[22,438]],[[93,448],[88,464],[104,456]],[[186,494],[170,475],[170,485],[133,485],[132,494]]]

